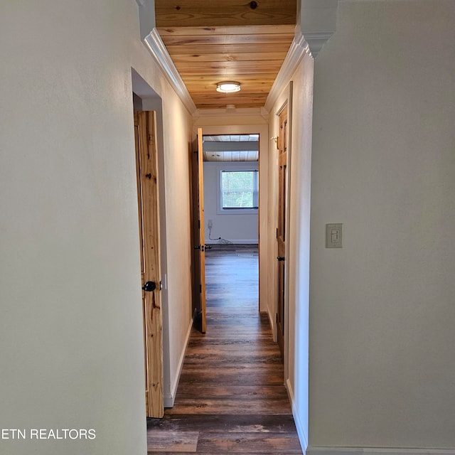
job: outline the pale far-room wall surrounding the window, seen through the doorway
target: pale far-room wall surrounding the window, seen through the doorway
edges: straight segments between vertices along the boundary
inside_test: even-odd
[[[232,243],[257,243],[258,210],[254,213],[220,213],[220,172],[221,171],[254,171],[256,162],[204,163],[204,217],[205,243],[219,243],[209,239],[208,220],[212,220],[212,239],[228,240]]]

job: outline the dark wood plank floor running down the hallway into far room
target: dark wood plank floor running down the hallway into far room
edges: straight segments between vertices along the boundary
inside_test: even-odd
[[[258,312],[257,247],[206,255],[207,332],[195,329],[176,401],[147,419],[149,454],[301,454],[279,349]]]

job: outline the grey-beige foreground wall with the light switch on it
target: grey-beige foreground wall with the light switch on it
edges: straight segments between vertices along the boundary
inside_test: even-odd
[[[453,449],[455,2],[338,8],[314,75],[309,444]]]

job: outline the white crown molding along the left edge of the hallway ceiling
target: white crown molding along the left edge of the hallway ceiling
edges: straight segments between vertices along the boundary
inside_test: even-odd
[[[166,80],[171,84],[171,87],[175,90],[176,94],[181,99],[181,102],[183,102],[183,105],[185,105],[186,109],[193,115],[196,112],[196,105],[188,93],[176,65],[173,64],[171,55],[169,55],[156,28],[144,38],[144,43],[156,60],[156,63],[158,63],[159,68],[161,68]]]

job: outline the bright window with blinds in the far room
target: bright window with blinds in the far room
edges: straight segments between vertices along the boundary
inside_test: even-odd
[[[258,208],[257,171],[221,171],[221,210],[255,210]]]

